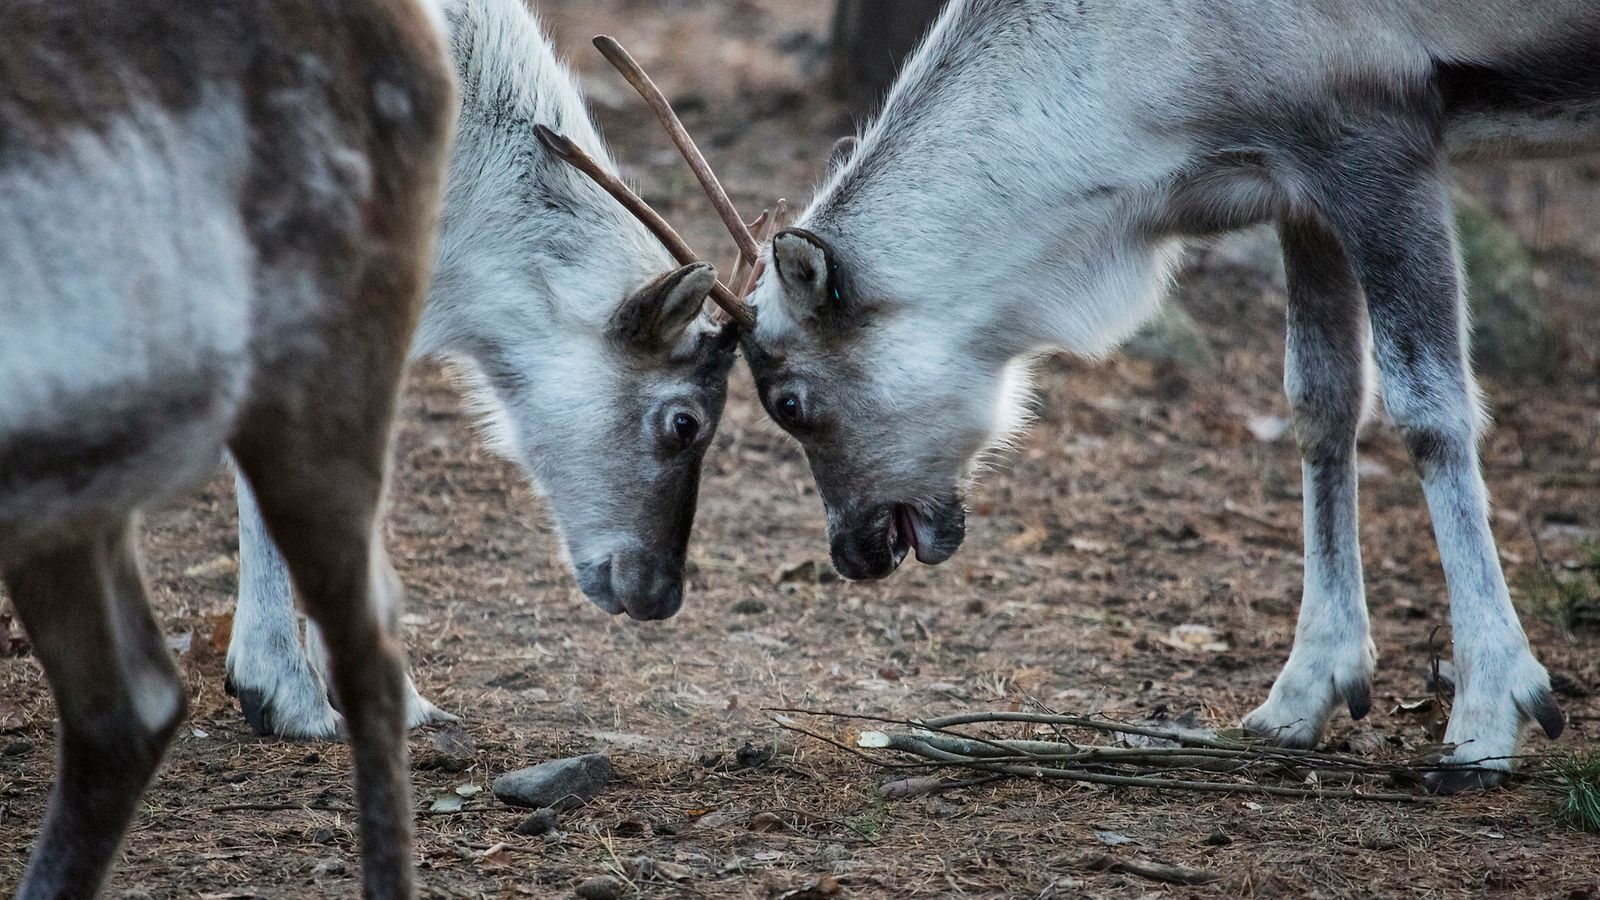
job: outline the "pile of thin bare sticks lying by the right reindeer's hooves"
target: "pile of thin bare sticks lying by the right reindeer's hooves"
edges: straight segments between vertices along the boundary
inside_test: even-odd
[[[1426,773],[1464,769],[1440,762],[1448,746],[1434,746],[1414,757],[1378,761],[1099,716],[997,711],[901,721],[814,709],[771,711],[778,713],[778,725],[874,765],[957,769],[979,775],[946,783],[946,788],[1014,777],[1158,791],[1413,804],[1432,799],[1426,791]],[[880,727],[854,730],[851,745],[806,727],[805,719],[872,722]],[[979,733],[992,735],[997,729],[1024,730],[1032,737],[1016,740]]]

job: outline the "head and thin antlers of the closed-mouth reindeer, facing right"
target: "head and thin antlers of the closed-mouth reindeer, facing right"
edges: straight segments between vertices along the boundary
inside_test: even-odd
[[[669,122],[696,171],[709,178],[699,151],[637,62],[610,38],[597,45]],[[568,266],[574,275],[550,285],[552,291],[614,295],[622,272],[637,269],[630,259],[664,266],[675,258],[680,264],[643,287],[629,287],[598,328],[568,330],[571,346],[562,352],[570,365],[557,367],[552,383],[523,392],[538,412],[514,410],[509,416],[526,426],[520,444],[528,452],[518,455],[549,496],[584,594],[611,613],[667,618],[683,599],[701,464],[722,416],[738,333],[754,319],[739,299],[744,291],[734,296],[720,283],[717,271],[606,165],[550,128],[539,125],[536,135],[546,151],[587,176],[570,173],[573,179],[590,194],[598,186],[619,203],[576,203],[587,219],[611,218],[611,240],[570,239],[578,242],[571,256],[590,264]],[[640,223],[650,234],[640,234]],[[616,247],[616,235],[630,234],[640,242]],[[739,250],[739,267],[747,271],[755,259],[754,239]],[[550,368],[547,360],[544,368]]]

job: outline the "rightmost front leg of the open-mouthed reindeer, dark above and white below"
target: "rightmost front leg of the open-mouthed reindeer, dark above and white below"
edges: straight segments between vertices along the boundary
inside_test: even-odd
[[[1483,413],[1467,365],[1443,163],[1418,159],[1418,139],[1365,136],[1314,178],[1366,290],[1384,402],[1422,477],[1450,586],[1458,684],[1445,740],[1456,745],[1450,761],[1475,765],[1434,778],[1437,790],[1454,793],[1498,785],[1526,721],[1550,737],[1565,721],[1528,649],[1490,532],[1478,466]]]

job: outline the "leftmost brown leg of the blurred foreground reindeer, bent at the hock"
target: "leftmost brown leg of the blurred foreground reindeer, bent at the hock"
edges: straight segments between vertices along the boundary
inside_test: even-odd
[[[93,897],[184,716],[178,669],[144,596],[133,527],[6,573],[61,716],[59,767],[18,897]]]

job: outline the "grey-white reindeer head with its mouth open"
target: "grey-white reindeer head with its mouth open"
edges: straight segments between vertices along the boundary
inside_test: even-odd
[[[1019,418],[1026,370],[974,356],[958,315],[910,315],[816,231],[778,234],[752,306],[746,359],[762,405],[805,448],[840,575],[955,554],[966,484]]]

